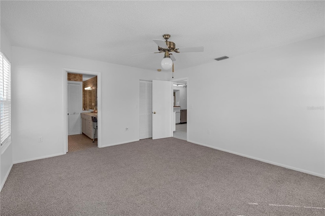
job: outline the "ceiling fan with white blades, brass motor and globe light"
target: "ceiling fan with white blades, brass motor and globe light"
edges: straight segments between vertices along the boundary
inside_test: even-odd
[[[171,52],[188,53],[188,52],[203,52],[204,50],[203,47],[176,48],[174,42],[168,41],[170,37],[171,37],[170,34],[164,34],[163,38],[165,39],[165,41],[152,39],[152,41],[158,45],[159,52],[151,52],[151,53],[165,53],[165,56],[161,61],[161,67],[163,67],[165,70],[170,69],[174,65],[173,62],[176,61],[174,55]],[[151,53],[141,53],[136,55],[144,55],[144,54],[151,54]]]

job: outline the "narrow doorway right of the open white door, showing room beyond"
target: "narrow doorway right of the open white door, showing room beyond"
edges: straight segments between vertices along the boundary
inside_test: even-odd
[[[173,137],[188,140],[187,134],[187,97],[188,78],[173,80],[173,103],[175,112],[175,130]]]

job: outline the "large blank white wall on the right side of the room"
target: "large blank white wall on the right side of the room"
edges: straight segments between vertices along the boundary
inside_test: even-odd
[[[320,37],[178,71],[188,140],[325,177],[324,57]]]

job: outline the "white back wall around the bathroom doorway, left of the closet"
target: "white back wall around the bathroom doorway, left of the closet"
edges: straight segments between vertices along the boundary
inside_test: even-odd
[[[167,78],[157,71],[20,47],[12,47],[12,57],[14,163],[63,154],[63,68],[101,73],[102,146],[139,140],[139,79]]]

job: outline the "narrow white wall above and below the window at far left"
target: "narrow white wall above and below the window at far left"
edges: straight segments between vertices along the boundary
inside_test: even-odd
[[[9,61],[11,61],[11,43],[6,35],[6,32],[1,27],[1,40],[0,49],[4,53]],[[11,167],[13,165],[13,154],[12,154],[12,144],[10,144],[6,149],[1,150],[0,154],[0,191],[2,190],[6,179],[9,175]]]

